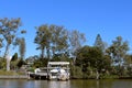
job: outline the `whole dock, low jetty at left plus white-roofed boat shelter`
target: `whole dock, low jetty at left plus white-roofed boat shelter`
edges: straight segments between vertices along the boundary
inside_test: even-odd
[[[69,62],[48,62],[47,67],[36,68],[34,73],[29,72],[29,79],[69,79]]]

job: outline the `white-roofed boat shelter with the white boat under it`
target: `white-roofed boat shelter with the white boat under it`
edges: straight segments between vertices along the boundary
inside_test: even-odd
[[[48,79],[69,79],[69,62],[48,62],[47,77]]]

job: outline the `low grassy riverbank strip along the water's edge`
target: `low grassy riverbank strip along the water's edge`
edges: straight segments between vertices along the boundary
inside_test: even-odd
[[[41,78],[43,78],[43,77],[41,77]],[[0,70],[0,79],[29,79],[29,76],[24,72],[18,73],[18,72],[13,72],[13,70],[10,70],[10,72]],[[46,78],[44,77],[44,79],[46,79]],[[96,76],[88,77],[88,78],[70,77],[70,79],[96,79]],[[99,79],[132,79],[132,77],[130,77],[130,76],[119,77],[117,75],[112,75],[112,76],[100,76]]]

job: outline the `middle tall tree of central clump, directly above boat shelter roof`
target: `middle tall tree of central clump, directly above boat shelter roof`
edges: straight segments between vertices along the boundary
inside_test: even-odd
[[[68,32],[64,26],[51,25],[52,29],[52,51],[53,55],[56,53],[64,54],[68,48]]]

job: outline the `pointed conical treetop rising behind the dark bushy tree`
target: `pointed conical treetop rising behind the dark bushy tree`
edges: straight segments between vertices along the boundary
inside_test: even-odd
[[[99,50],[101,50],[102,52],[105,52],[105,43],[103,43],[100,34],[97,34],[97,37],[96,37],[94,46],[96,46]]]

